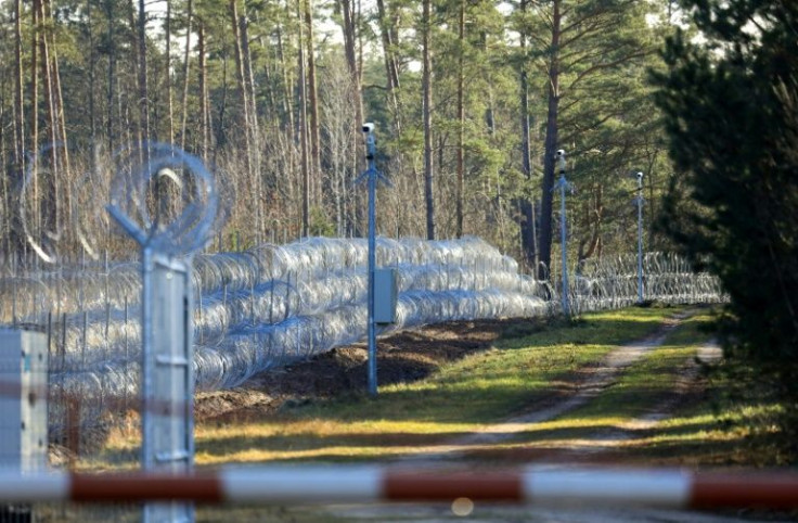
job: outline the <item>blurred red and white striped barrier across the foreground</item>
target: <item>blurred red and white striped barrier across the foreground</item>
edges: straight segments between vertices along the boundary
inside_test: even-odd
[[[798,508],[796,473],[678,470],[441,472],[384,467],[231,468],[191,475],[142,472],[20,475],[0,471],[0,501],[314,503],[479,501],[670,508]]]

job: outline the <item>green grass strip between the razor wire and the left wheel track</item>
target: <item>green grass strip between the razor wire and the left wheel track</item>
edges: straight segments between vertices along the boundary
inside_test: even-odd
[[[381,387],[377,398],[314,401],[276,419],[198,426],[196,461],[351,461],[423,452],[511,417],[678,310],[604,311],[532,332],[520,329],[423,381]]]

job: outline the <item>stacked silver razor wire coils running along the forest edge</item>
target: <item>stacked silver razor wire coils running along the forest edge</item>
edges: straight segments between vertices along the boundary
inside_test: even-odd
[[[366,242],[313,238],[242,253],[196,255],[194,374],[200,391],[360,341],[366,328]],[[512,258],[478,238],[378,239],[377,263],[397,273],[397,321],[382,333],[429,323],[559,312],[548,282],[518,273]],[[719,280],[680,257],[645,258],[645,296],[667,303],[725,301]],[[585,264],[568,289],[574,310],[636,302],[634,256]],[[47,330],[52,434],[65,430],[68,398],[81,422],[136,408],[141,359],[139,264],[87,264],[0,279],[5,323]],[[67,399],[64,399],[67,398]]]

